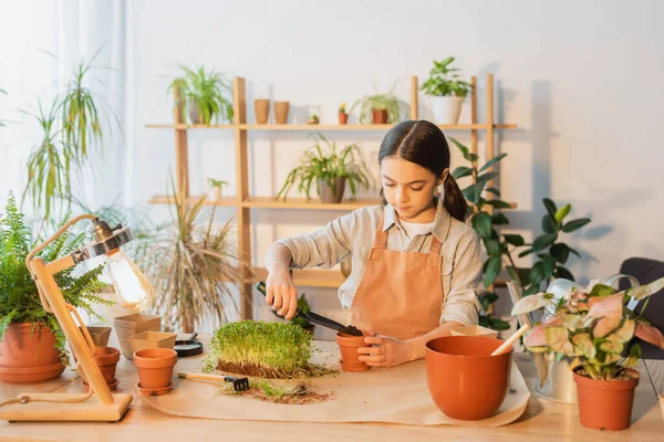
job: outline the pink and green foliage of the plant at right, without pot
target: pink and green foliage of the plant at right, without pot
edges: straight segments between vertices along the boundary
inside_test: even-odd
[[[537,325],[526,336],[530,351],[553,351],[558,358],[572,358],[571,368],[592,379],[611,380],[629,376],[626,369],[636,366],[641,347],[634,337],[664,349],[662,332],[641,314],[627,308],[630,298],[645,299],[664,288],[664,278],[624,292],[591,283],[573,287],[558,301],[552,294],[538,293],[521,298],[512,315],[553,306],[556,314]],[[645,309],[642,308],[642,313]],[[622,358],[629,348],[629,356]]]

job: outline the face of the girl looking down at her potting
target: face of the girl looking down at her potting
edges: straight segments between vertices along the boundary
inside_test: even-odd
[[[424,167],[398,157],[383,159],[381,176],[385,199],[400,219],[408,222],[433,221],[428,220],[430,214],[427,211],[434,206],[434,190],[443,183],[444,177],[436,179]]]

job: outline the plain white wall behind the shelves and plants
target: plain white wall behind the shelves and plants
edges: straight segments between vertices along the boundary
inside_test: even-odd
[[[540,201],[550,197],[572,203],[573,217],[593,219],[569,240],[583,254],[570,262],[578,276],[608,276],[632,255],[664,259],[657,130],[664,119],[664,2],[142,0],[127,8],[137,201],[164,193],[175,165],[173,131],[145,125],[172,120],[166,87],[178,62],[243,76],[249,103],[288,99],[300,115],[304,105],[318,104],[322,122],[334,123],[341,102],[351,104],[374,84],[385,90],[400,80],[408,99],[408,75],[422,82],[432,59],[455,55],[465,74],[479,78],[480,97],[486,74],[494,73],[496,115],[519,125],[498,138],[509,154],[500,187],[519,204],[509,214],[515,231],[539,233]],[[427,117],[426,97],[421,103]],[[484,99],[479,105],[481,119]],[[381,135],[329,134],[339,143],[361,141],[367,160]],[[469,141],[464,131],[449,135]],[[307,146],[301,133],[251,133],[253,192],[274,194]],[[459,164],[458,156],[453,160]],[[193,191],[203,191],[207,177],[234,181],[234,161],[230,131],[193,133]],[[342,213],[253,211],[255,255],[262,261],[272,240]],[[166,217],[167,209],[155,208],[154,215]],[[334,291],[305,290],[315,293],[314,307],[335,314]]]

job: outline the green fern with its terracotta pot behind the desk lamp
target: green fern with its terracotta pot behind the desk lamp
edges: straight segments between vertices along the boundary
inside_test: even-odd
[[[61,227],[66,222],[62,221]],[[63,233],[39,255],[46,262],[69,254],[85,244],[86,234]],[[25,265],[37,241],[10,193],[0,217],[0,380],[30,382],[56,378],[69,361],[64,334],[52,313],[48,313]],[[93,304],[111,305],[97,293],[103,267],[76,273],[68,269],[55,275],[68,304],[102,319]]]

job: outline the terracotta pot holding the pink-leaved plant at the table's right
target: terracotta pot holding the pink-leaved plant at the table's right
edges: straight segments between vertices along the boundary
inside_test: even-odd
[[[596,380],[573,372],[579,392],[579,418],[583,427],[611,431],[630,427],[634,389],[639,385],[639,371],[630,371],[635,379]]]

